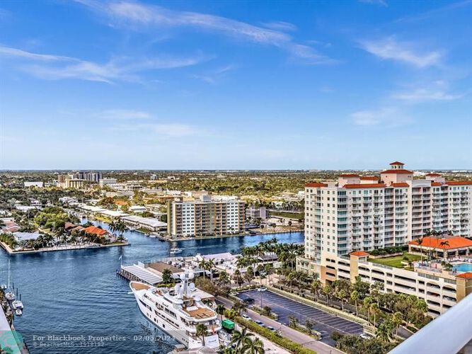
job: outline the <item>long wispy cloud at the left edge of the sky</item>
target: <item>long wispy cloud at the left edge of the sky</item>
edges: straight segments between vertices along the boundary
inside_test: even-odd
[[[96,63],[74,57],[38,54],[13,47],[0,46],[0,57],[23,59],[26,64],[13,61],[13,65],[40,79],[81,79],[87,81],[139,81],[139,72],[156,69],[174,69],[199,64],[208,58],[193,57],[116,57],[105,63]]]

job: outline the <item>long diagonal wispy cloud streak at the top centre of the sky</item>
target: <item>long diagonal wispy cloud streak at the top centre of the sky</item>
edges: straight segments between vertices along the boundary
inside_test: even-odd
[[[292,57],[306,64],[332,64],[335,60],[321,55],[308,45],[294,41],[292,36],[279,28],[263,28],[222,16],[190,11],[173,11],[157,5],[142,4],[137,1],[76,0],[94,11],[107,16],[115,25],[129,25],[137,30],[154,28],[187,27],[207,30],[217,35],[226,35],[238,40],[246,40],[261,45],[272,45],[288,52]],[[274,23],[272,23],[274,25]],[[287,23],[284,23],[287,30]]]

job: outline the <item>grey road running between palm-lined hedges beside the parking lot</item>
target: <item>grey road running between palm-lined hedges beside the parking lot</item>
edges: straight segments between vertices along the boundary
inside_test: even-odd
[[[217,297],[217,302],[219,302],[220,304],[224,304],[224,306],[228,309],[233,306],[233,302],[224,297]],[[266,326],[274,327],[275,329],[277,329],[277,331],[280,331],[280,334],[284,338],[289,338],[290,340],[301,344],[305,348],[309,348],[311,350],[316,351],[316,353],[318,354],[343,354],[343,352],[340,352],[336,348],[328,346],[328,344],[326,343],[316,341],[304,333],[291,329],[288,326],[280,324],[279,322],[269,319],[265,316],[261,316],[257,312],[252,311],[251,309],[248,309],[248,316],[250,316],[251,319],[262,321],[263,324],[265,324]]]

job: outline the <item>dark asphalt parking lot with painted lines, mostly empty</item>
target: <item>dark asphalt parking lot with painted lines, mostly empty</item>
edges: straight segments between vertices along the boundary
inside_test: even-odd
[[[343,319],[334,314],[329,314],[321,309],[301,304],[268,290],[263,292],[248,290],[241,292],[238,297],[240,299],[251,297],[254,299],[252,304],[259,307],[262,299],[262,307],[270,307],[272,312],[279,316],[277,321],[284,325],[289,324],[289,316],[297,317],[299,324],[305,324],[306,319],[310,319],[313,323],[313,329],[321,333],[321,341],[330,346],[335,344],[330,338],[330,334],[333,331],[345,334],[361,334],[363,332],[362,325],[360,324]]]

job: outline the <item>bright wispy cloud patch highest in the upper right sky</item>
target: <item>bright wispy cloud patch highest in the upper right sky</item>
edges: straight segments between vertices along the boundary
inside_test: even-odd
[[[438,51],[420,52],[412,42],[398,42],[391,36],[381,40],[361,42],[362,49],[381,59],[391,59],[424,68],[438,65],[442,53]]]

